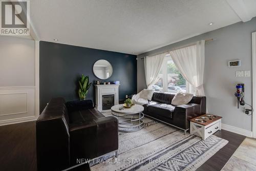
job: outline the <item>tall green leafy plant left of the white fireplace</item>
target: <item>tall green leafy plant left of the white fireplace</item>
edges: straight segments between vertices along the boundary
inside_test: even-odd
[[[89,83],[89,76],[84,76],[83,74],[78,82],[79,82],[79,90],[78,90],[79,98],[80,100],[85,100],[92,82]]]

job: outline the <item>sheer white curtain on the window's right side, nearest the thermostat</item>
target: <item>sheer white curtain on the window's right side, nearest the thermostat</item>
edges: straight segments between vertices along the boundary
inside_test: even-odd
[[[197,41],[196,45],[169,52],[182,76],[200,96],[204,96],[204,43],[204,40]]]

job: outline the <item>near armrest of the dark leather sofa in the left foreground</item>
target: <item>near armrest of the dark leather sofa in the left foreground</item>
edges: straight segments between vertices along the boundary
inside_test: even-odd
[[[71,163],[79,159],[93,159],[118,149],[118,121],[104,117],[70,124]]]

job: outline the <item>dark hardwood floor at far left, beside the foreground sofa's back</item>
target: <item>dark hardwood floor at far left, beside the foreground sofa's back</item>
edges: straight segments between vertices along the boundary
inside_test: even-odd
[[[35,121],[0,126],[0,170],[36,170]]]

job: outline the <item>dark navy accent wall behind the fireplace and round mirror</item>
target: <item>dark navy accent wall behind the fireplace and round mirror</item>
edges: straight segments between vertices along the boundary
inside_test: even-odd
[[[79,99],[78,78],[89,75],[90,82],[98,79],[93,74],[93,65],[98,59],[108,60],[113,74],[103,81],[120,81],[119,100],[125,95],[137,93],[136,55],[83,48],[71,45],[40,41],[39,81],[40,113],[53,97],[64,97],[66,101]],[[95,103],[95,86],[91,86],[86,99]]]

